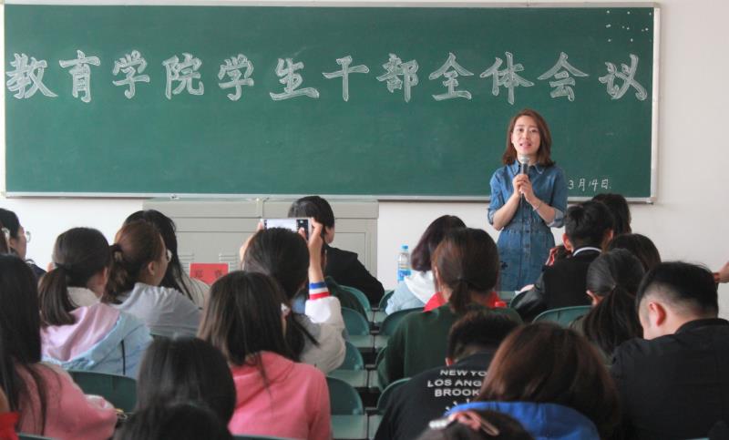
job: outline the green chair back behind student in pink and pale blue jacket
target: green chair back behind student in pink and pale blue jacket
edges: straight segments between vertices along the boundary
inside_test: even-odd
[[[114,407],[131,413],[137,404],[137,381],[117,374],[72,370],[68,372],[84,394],[100,395]]]

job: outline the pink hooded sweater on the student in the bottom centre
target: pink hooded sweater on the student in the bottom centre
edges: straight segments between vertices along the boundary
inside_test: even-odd
[[[268,386],[255,366],[233,366],[237,394],[228,424],[233,435],[274,435],[295,439],[332,438],[329,389],[323,373],[306,363],[263,352]]]

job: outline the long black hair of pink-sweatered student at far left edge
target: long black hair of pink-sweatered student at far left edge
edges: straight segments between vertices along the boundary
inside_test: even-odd
[[[46,368],[41,362],[40,314],[36,276],[25,261],[14,255],[0,255],[0,386],[12,411],[21,420],[40,421],[37,431],[46,429],[46,381],[37,371]],[[35,386],[26,383],[25,373]],[[35,388],[34,391],[31,391]],[[35,405],[21,403],[36,401]]]

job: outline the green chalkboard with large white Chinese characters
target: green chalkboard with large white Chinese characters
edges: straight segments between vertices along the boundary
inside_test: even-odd
[[[657,12],[5,5],[5,188],[480,199],[533,107],[570,196],[648,198]]]

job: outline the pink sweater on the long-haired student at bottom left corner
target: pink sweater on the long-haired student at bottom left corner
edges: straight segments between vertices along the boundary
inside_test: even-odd
[[[46,384],[46,429],[42,430],[36,383],[20,370],[30,394],[30,403],[20,402],[20,432],[58,440],[101,440],[114,435],[117,412],[111,404],[101,397],[85,395],[71,376],[56,366],[37,364],[33,369]]]

